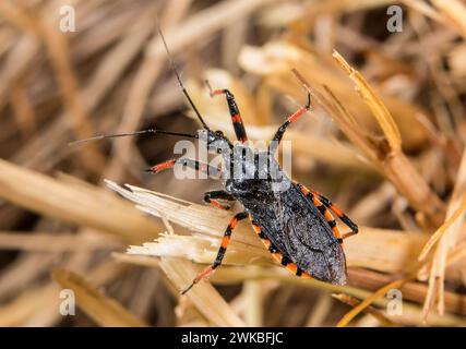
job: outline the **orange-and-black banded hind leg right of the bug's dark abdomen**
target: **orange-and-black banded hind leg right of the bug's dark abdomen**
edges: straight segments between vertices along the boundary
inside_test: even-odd
[[[328,222],[328,226],[332,228],[332,231],[336,239],[342,243],[344,239],[349,238],[350,236],[354,236],[358,233],[358,226],[349,219],[348,216],[346,216],[342,209],[339,209],[335,204],[333,204],[328,198],[321,195],[320,193],[309,190],[302,184],[297,183],[298,188],[301,190],[301,192],[309,197],[309,200],[318,207],[318,209],[321,212],[321,214],[325,217],[326,221]],[[333,215],[331,214],[331,210],[344,222],[346,224],[351,231],[346,232],[342,234],[339,232],[339,229],[336,227],[336,221],[333,218]]]

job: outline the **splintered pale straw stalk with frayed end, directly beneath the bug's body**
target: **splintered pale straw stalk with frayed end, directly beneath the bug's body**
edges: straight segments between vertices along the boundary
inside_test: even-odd
[[[155,242],[131,246],[129,253],[184,257],[198,263],[211,263],[215,257],[222,231],[230,219],[224,210],[192,204],[146,189],[127,185],[123,189],[107,181],[110,189],[136,203],[151,215],[165,216],[169,221],[194,230],[193,236],[160,234]],[[417,261],[426,237],[419,233],[399,233],[384,229],[361,227],[361,233],[345,244],[349,266],[365,266],[385,273],[403,273]],[[381,254],[380,249],[386,251]],[[249,225],[241,222],[228,248],[225,264],[275,265]]]

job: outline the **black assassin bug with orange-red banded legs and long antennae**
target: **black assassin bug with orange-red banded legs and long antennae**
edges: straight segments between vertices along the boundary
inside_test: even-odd
[[[246,144],[248,135],[234,95],[228,89],[212,89],[207,83],[212,97],[224,96],[226,98],[238,139],[238,143],[235,144],[222,131],[212,131],[207,127],[181,81],[162,31],[159,33],[181,91],[203,125],[207,146],[219,149],[218,153],[223,157],[224,164],[230,165],[227,166],[228,168],[239,166],[244,169],[239,174],[229,176],[231,173],[228,170],[193,159],[178,158],[155,165],[147,170],[157,173],[179,164],[205,172],[207,176],[220,179],[224,183],[224,190],[204,194],[206,203],[222,209],[230,209],[230,206],[226,206],[219,201],[238,201],[243,206],[243,210],[236,214],[228,224],[213,264],[194,278],[181,293],[188,292],[195,284],[220,266],[232,231],[240,220],[247,218],[251,220],[255,233],[273,257],[296,276],[315,278],[335,285],[346,284],[346,260],[342,244],[344,239],[358,232],[358,226],[328,198],[300,183],[292,182],[274,157],[286,129],[310,110],[309,87],[301,81],[307,89],[306,106],[300,107],[286,119],[276,131],[266,151],[254,151],[252,158],[248,158],[246,154],[251,149]],[[296,71],[295,73],[297,74]],[[297,76],[300,79],[299,75]],[[152,129],[134,133],[101,135],[88,140],[143,133],[199,139],[199,135]],[[261,158],[266,160],[261,161]],[[276,190],[274,185],[277,183],[285,184],[282,186],[285,189]],[[350,228],[349,232],[343,234],[339,232],[333,214]]]

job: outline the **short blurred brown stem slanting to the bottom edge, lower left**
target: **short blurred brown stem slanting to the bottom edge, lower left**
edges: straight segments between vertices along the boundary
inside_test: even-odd
[[[141,327],[144,321],[128,312],[120,303],[97,291],[75,273],[56,268],[52,278],[61,287],[72,289],[76,304],[100,326]]]

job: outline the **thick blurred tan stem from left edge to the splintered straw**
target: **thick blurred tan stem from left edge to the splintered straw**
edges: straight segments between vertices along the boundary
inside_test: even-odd
[[[147,241],[162,225],[127,202],[63,184],[47,176],[0,160],[0,197],[44,215],[113,233],[124,241]]]

